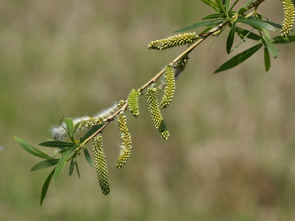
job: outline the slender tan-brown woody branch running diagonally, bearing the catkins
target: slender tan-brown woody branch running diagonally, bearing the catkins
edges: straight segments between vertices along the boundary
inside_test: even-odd
[[[251,3],[250,5],[248,5],[246,7],[246,9],[251,9],[253,7],[256,7],[258,5],[260,5],[263,1],[265,0],[257,0],[253,3]],[[233,18],[237,17],[237,15],[235,15]],[[211,34],[213,34],[214,32],[217,32],[219,29],[223,28],[225,25],[227,25],[230,22],[230,20],[224,21],[222,23],[220,23],[219,25],[215,26],[214,28],[210,29],[208,32],[206,33],[202,33],[199,35],[199,39],[196,40],[196,42],[194,44],[192,44],[188,49],[186,49],[184,52],[182,52],[178,57],[176,57],[169,65],[173,65],[176,62],[178,62],[178,60],[180,60],[183,56],[189,54],[192,50],[194,50],[194,48],[196,46],[198,46],[202,41],[204,41],[207,37],[209,37]],[[140,90],[140,92],[142,92],[145,88],[147,88],[150,84],[155,83],[159,77],[161,75],[163,75],[163,73],[165,72],[165,68],[163,70],[161,70],[155,77],[153,77],[149,82],[147,82],[145,85],[143,85],[141,88],[139,88],[138,90]],[[112,116],[110,116],[108,118],[108,121],[104,124],[104,126],[102,126],[98,131],[96,131],[94,134],[92,134],[89,138],[87,138],[80,146],[80,149],[88,142],[90,141],[96,134],[101,133],[104,128],[106,128],[106,126],[109,124],[110,121],[112,121],[121,111],[125,111],[127,108],[127,100],[125,102],[125,104],[122,106],[122,108],[120,108],[116,113],[114,113]]]

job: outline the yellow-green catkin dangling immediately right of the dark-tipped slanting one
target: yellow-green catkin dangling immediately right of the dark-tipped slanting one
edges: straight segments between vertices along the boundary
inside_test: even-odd
[[[161,108],[167,108],[168,105],[171,103],[172,98],[174,97],[175,92],[175,76],[174,76],[174,68],[170,65],[165,67],[165,94],[162,98],[162,101],[160,103]]]

